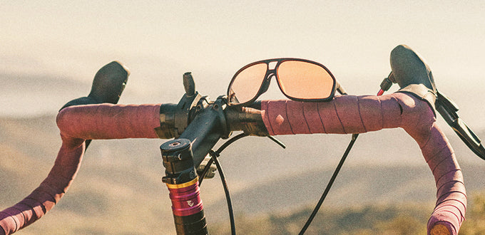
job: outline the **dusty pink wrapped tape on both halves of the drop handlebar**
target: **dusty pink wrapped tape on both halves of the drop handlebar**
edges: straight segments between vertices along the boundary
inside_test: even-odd
[[[394,93],[381,97],[342,95],[327,103],[267,100],[261,102],[261,108],[260,119],[271,135],[362,133],[402,127],[419,144],[436,180],[437,202],[428,230],[438,224],[446,226],[451,234],[459,230],[466,209],[463,177],[426,102]],[[158,137],[155,128],[160,126],[160,105],[71,106],[61,110],[57,123],[63,145],[56,164],[39,189],[2,211],[0,225],[6,234],[31,224],[58,202],[81,163],[83,140]],[[51,180],[53,177],[58,179]]]

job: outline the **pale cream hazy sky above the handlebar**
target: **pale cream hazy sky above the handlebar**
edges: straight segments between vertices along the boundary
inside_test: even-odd
[[[374,94],[404,43],[461,117],[485,127],[484,41],[485,1],[0,0],[0,115],[55,114],[114,60],[131,70],[120,103],[178,103],[187,71],[216,98],[239,68],[277,57],[320,62],[349,93]]]

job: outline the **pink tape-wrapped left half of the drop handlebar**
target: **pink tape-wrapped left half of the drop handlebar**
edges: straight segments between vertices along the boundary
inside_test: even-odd
[[[58,113],[62,146],[48,176],[29,196],[0,211],[0,234],[12,234],[34,223],[67,192],[81,165],[84,140],[157,138],[160,105],[77,105]]]

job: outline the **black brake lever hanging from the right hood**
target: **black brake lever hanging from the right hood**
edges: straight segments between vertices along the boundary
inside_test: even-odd
[[[485,148],[481,145],[481,140],[475,135],[475,133],[465,124],[463,120],[456,113],[459,108],[453,100],[437,93],[436,98],[436,110],[448,123],[448,125],[456,132],[456,135],[470,148],[477,156],[485,160]]]

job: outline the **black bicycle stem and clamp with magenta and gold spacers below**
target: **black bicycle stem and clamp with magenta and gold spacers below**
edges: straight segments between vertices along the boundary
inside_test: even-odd
[[[198,175],[195,171],[220,138],[228,138],[232,130],[252,135],[268,135],[260,110],[229,108],[221,95],[215,101],[195,91],[190,73],[183,75],[185,95],[178,105],[160,105],[160,138],[175,137],[160,145],[165,167],[163,182],[172,202],[175,229],[178,234],[207,234],[207,224],[200,199]]]

